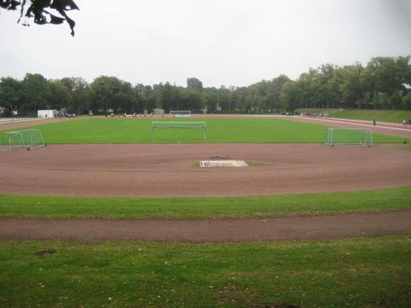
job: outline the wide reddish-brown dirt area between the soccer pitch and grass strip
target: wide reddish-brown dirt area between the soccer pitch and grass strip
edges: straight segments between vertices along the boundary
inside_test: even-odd
[[[0,154],[3,194],[246,196],[411,185],[403,144],[76,144]],[[194,166],[217,155],[263,165]]]

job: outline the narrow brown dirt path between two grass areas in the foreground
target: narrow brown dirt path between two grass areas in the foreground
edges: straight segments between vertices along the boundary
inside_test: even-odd
[[[10,240],[254,242],[411,233],[411,211],[335,216],[196,220],[0,219]]]

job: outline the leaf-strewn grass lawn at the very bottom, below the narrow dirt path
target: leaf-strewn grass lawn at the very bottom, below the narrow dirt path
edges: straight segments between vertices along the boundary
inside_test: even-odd
[[[410,235],[248,244],[3,240],[0,306],[408,307],[410,254]]]

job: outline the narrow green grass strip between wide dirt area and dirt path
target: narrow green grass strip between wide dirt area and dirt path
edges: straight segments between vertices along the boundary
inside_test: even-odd
[[[88,198],[0,195],[0,217],[224,218],[411,209],[411,187],[245,197]]]

